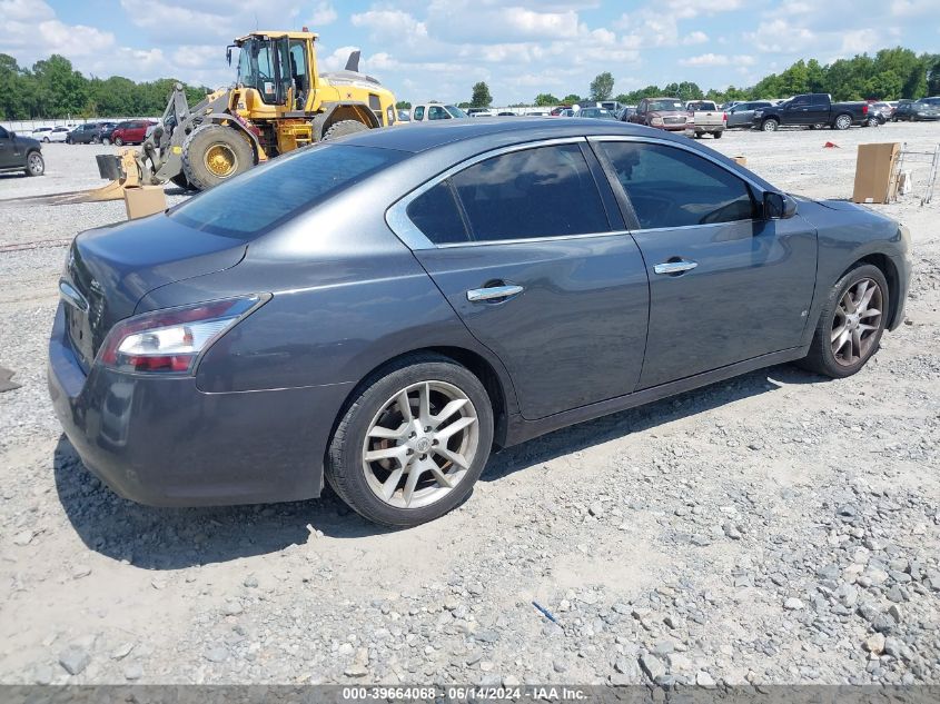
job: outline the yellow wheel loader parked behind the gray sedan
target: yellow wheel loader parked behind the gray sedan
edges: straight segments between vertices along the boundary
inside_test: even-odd
[[[101,177],[115,180],[83,199],[117,199],[126,187],[166,181],[204,190],[298,147],[392,126],[395,97],[359,72],[359,52],[345,70],[319,73],[316,39],[306,28],[236,39],[226,51],[230,65],[239,50],[235,87],[190,107],[177,85],[139,150],[98,157]]]

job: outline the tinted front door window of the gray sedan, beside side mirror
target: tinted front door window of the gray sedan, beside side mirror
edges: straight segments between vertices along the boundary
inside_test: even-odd
[[[684,149],[642,142],[603,142],[640,227],[686,227],[755,217],[748,185]]]

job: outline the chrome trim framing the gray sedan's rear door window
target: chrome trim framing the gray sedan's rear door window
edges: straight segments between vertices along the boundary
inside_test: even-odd
[[[453,249],[454,247],[484,247],[487,245],[513,245],[513,244],[532,244],[532,242],[545,242],[545,241],[558,241],[565,239],[584,239],[587,237],[607,237],[614,235],[626,235],[626,230],[617,230],[617,231],[603,231],[603,232],[587,232],[582,235],[552,235],[548,237],[527,237],[527,238],[515,238],[515,239],[492,239],[492,240],[482,240],[482,241],[466,241],[466,242],[445,242],[443,245],[435,245],[422,232],[417,226],[412,222],[410,218],[408,217],[408,206],[412,205],[412,201],[423,196],[432,188],[441,184],[441,181],[445,181],[455,173],[463,171],[464,169],[468,169],[469,167],[479,163],[481,161],[486,161],[487,159],[492,159],[494,157],[501,157],[506,153],[512,153],[514,151],[525,151],[527,149],[536,149],[538,147],[552,147],[555,145],[583,145],[587,141],[586,137],[555,137],[552,139],[538,139],[535,141],[528,142],[521,142],[517,145],[509,145],[507,147],[498,147],[496,149],[491,149],[489,151],[484,151],[483,153],[478,153],[474,157],[469,157],[461,161],[459,163],[452,166],[445,171],[442,171],[431,180],[425,181],[417,188],[413,189],[397,201],[395,201],[388,209],[385,211],[385,222],[392,229],[393,232],[400,239],[405,245],[407,245],[412,250],[419,251],[423,249]],[[585,160],[585,166],[590,168],[590,165]],[[597,197],[601,198],[601,194],[598,191]],[[602,200],[603,204],[603,200]]]

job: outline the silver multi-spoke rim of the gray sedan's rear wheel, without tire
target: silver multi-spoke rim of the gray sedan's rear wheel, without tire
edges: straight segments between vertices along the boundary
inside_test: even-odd
[[[419,508],[452,492],[479,447],[469,397],[446,381],[419,381],[389,398],[363,444],[363,472],[373,493],[396,508]]]

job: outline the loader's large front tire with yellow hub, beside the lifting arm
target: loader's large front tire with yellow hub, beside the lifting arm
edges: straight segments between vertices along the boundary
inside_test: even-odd
[[[182,145],[182,176],[207,190],[255,166],[255,151],[234,128],[204,125]]]

